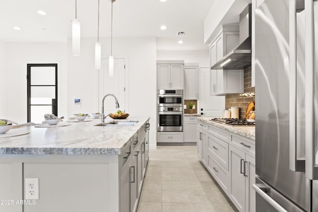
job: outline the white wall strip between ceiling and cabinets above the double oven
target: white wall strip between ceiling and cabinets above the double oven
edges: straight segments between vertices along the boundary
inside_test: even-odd
[[[209,49],[207,50],[158,50],[157,60],[184,60],[185,63],[199,63],[209,67]]]

